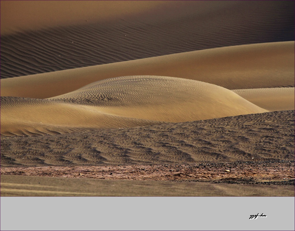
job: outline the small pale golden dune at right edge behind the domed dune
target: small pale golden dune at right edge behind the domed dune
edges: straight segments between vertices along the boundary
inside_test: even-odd
[[[251,103],[269,111],[295,109],[294,87],[232,90]]]

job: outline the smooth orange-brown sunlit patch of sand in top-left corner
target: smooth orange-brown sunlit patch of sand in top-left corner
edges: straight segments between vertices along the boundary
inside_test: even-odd
[[[167,6],[165,1],[1,1],[1,22],[4,23],[1,35],[130,17],[155,10],[163,4]]]

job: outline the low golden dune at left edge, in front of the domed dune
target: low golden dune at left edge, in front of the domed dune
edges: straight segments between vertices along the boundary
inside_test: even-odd
[[[160,122],[119,117],[99,107],[31,98],[1,97],[1,135],[54,135]]]

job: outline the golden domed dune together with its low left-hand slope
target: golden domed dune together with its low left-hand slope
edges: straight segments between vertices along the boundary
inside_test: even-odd
[[[1,134],[136,127],[267,112],[223,87],[167,76],[97,81],[49,99],[2,97]]]

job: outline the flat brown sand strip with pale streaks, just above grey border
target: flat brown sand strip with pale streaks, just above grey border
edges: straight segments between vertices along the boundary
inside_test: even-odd
[[[294,196],[294,186],[1,175],[1,196]]]

